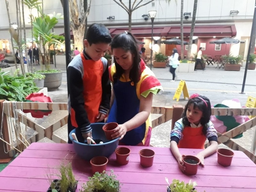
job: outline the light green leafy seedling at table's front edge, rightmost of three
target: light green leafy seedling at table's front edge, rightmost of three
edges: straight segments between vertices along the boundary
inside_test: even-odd
[[[166,182],[168,183],[167,186],[167,192],[196,192],[196,182],[192,182],[189,180],[188,183],[185,183],[184,181],[180,181],[177,179],[173,179],[172,183],[169,184],[168,178],[165,177]]]

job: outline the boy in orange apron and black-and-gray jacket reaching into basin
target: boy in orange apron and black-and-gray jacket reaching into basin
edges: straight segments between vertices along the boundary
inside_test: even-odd
[[[68,65],[68,135],[78,127],[77,132],[83,136],[76,134],[79,141],[92,137],[91,123],[104,120],[109,109],[111,85],[108,61],[103,56],[111,40],[108,28],[92,24],[84,40],[84,51]],[[69,138],[68,143],[72,143]]]

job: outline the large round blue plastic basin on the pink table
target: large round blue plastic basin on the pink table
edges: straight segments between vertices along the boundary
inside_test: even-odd
[[[69,139],[73,142],[73,146],[75,148],[76,154],[82,157],[83,159],[90,161],[92,157],[95,156],[105,156],[109,157],[114,151],[116,150],[118,146],[118,139],[116,138],[114,140],[108,140],[105,136],[104,131],[102,130],[102,127],[105,123],[92,123],[92,138],[93,139],[100,139],[103,141],[103,144],[84,144],[75,141],[72,137],[72,133],[76,133],[76,137],[78,141],[81,141],[82,135],[79,130],[72,130],[69,134]],[[84,140],[82,139],[82,142]]]

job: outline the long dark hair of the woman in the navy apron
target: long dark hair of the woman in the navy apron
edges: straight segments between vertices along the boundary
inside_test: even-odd
[[[121,33],[114,36],[111,43],[111,50],[113,51],[113,49],[115,48],[122,48],[124,49],[124,51],[130,51],[134,55],[129,78],[133,82],[134,86],[136,86],[136,84],[140,80],[140,53],[135,37],[129,32]],[[117,79],[119,79],[124,73],[124,69],[116,62],[115,57],[114,62],[116,66],[116,73],[113,75],[113,81],[114,83],[116,83]]]

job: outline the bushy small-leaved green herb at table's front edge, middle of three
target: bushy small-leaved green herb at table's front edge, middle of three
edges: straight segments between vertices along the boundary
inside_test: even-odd
[[[102,173],[96,172],[92,177],[88,178],[86,184],[79,189],[79,192],[119,192],[120,182],[116,180],[116,175],[113,170],[110,174],[103,171]]]

